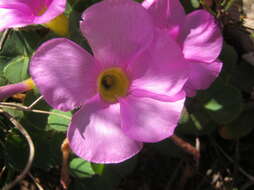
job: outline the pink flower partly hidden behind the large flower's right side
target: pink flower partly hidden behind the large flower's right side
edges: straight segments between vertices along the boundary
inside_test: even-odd
[[[187,95],[194,96],[196,90],[208,88],[222,68],[218,56],[223,40],[215,18],[205,10],[185,15],[179,0],[145,0],[143,6],[157,27],[167,30],[178,42],[190,64],[190,76],[184,87]]]

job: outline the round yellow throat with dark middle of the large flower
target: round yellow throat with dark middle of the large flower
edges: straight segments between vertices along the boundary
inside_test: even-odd
[[[97,79],[97,88],[105,101],[116,102],[117,97],[127,94],[129,79],[121,68],[109,68],[99,75]]]

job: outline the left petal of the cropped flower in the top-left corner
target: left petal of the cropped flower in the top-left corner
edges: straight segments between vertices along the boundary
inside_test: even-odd
[[[0,2],[0,31],[23,27],[33,23],[34,15],[28,5],[22,2]]]

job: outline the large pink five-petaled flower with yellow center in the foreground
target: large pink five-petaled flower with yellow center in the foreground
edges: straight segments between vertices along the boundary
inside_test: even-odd
[[[176,42],[155,29],[148,12],[131,0],[91,6],[80,28],[94,57],[57,38],[42,44],[30,65],[52,107],[81,106],[68,128],[73,152],[88,161],[117,163],[138,153],[143,142],[171,136],[188,77]]]

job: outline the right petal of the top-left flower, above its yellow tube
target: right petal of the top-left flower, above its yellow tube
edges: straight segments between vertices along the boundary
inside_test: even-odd
[[[62,14],[65,10],[66,0],[44,0],[46,11],[41,16],[36,16],[34,24],[43,24]]]

